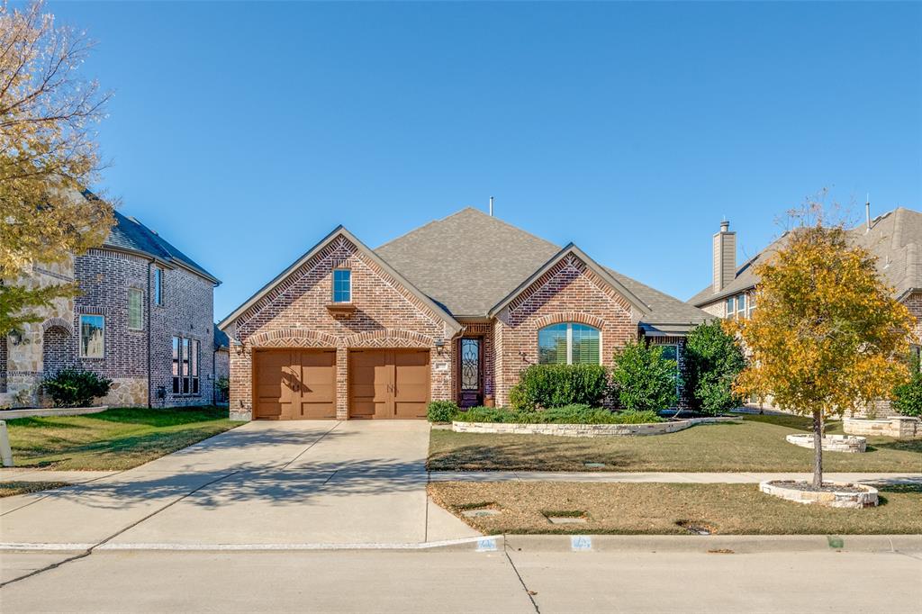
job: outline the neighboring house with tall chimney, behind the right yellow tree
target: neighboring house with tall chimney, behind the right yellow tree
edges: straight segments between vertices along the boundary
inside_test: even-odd
[[[910,345],[916,355],[922,346],[922,213],[898,207],[848,230],[851,242],[878,258],[878,270],[894,289],[894,296],[916,316],[915,337]],[[711,284],[691,297],[691,305],[721,318],[749,317],[758,308],[755,288],[759,278],[753,269],[769,258],[785,241],[785,235],[737,266],[737,237],[722,222],[714,235]],[[881,401],[879,414],[888,413],[890,404]]]

